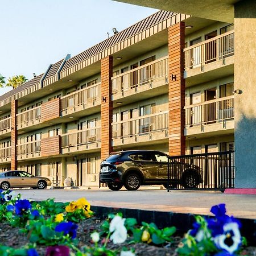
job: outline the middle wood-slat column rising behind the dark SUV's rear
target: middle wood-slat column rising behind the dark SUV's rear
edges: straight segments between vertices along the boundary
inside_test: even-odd
[[[101,159],[106,159],[112,147],[112,115],[113,102],[111,100],[113,74],[113,57],[108,56],[101,60]]]

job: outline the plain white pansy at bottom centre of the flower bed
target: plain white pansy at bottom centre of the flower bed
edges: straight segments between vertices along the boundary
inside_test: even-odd
[[[125,228],[125,218],[115,216],[110,222],[109,231],[113,232],[110,240],[116,243],[123,243],[127,239],[127,229]]]

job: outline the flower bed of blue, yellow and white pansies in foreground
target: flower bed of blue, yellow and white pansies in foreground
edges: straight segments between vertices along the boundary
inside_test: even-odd
[[[138,225],[121,213],[100,220],[84,198],[30,202],[0,191],[0,201],[3,256],[256,255],[254,247],[246,247],[240,222],[226,214],[224,204],[212,207],[213,218],[196,216],[193,229],[181,238],[174,226]]]

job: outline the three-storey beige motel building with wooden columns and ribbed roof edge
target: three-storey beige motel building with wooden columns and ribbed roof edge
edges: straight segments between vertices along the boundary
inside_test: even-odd
[[[250,50],[237,56],[234,19],[184,13],[158,11],[0,96],[0,171],[98,187],[113,151],[234,150],[235,187],[255,187]]]

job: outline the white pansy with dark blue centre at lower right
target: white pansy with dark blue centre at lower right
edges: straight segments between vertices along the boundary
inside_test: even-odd
[[[241,243],[241,234],[236,222],[230,222],[223,226],[224,233],[214,237],[216,246],[233,254]]]

